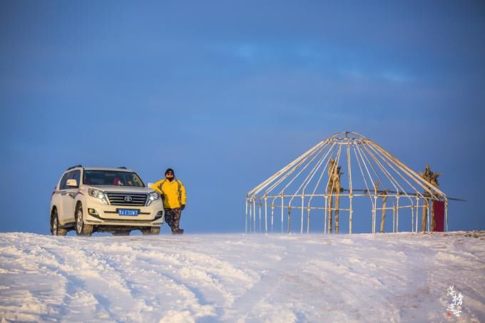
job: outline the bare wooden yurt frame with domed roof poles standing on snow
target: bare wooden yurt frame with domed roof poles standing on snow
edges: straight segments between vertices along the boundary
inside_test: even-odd
[[[339,175],[338,165],[342,163],[347,164],[344,180],[340,180]],[[360,176],[362,181],[359,183],[364,183],[364,187],[354,188],[356,176]],[[336,189],[335,186],[340,184],[345,188]],[[297,190],[288,192],[290,185],[295,185]],[[412,214],[409,219],[412,232],[418,231],[419,213],[423,215],[422,230],[430,231],[432,207],[429,205],[434,200],[444,202],[445,230],[448,230],[448,198],[441,190],[374,141],[359,133],[345,131],[322,140],[247,193],[245,232],[273,232],[279,209],[281,232],[284,227],[290,232],[292,210],[297,210],[300,215],[300,233],[310,233],[312,212],[320,216],[320,219],[325,218],[322,225],[324,233],[332,232],[332,213],[335,213],[335,231],[338,233],[339,211],[348,212],[349,233],[352,233],[353,202],[357,198],[368,198],[371,202],[372,233],[377,232],[378,210],[382,210],[382,221],[385,212],[392,211],[392,232],[399,232],[399,210],[408,207]],[[315,205],[317,199],[325,199],[325,206]],[[332,205],[333,200],[338,205],[339,199],[348,199],[348,207]],[[378,205],[378,201],[381,205]],[[322,200],[320,202],[323,203]]]

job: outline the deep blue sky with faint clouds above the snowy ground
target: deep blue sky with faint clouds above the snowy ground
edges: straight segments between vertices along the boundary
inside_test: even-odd
[[[245,193],[354,130],[444,175],[485,229],[481,1],[0,1],[0,231],[48,232],[71,165],[172,167],[188,232],[244,230]],[[363,230],[363,229],[362,229]]]

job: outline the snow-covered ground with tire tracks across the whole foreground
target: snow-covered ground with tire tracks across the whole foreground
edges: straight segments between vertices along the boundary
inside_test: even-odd
[[[454,286],[461,317],[447,317]],[[485,232],[0,234],[0,321],[485,322]]]

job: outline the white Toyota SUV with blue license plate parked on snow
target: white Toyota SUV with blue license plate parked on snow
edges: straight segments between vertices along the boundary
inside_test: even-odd
[[[141,178],[125,167],[68,168],[51,198],[51,233],[78,235],[112,232],[129,235],[141,230],[158,235],[163,224],[163,201]]]

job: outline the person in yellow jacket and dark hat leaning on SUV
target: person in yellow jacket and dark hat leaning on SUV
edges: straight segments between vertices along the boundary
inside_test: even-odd
[[[152,185],[152,188],[160,193],[163,198],[163,208],[165,209],[165,222],[172,229],[173,235],[183,234],[183,229],[179,229],[180,215],[185,209],[187,195],[185,187],[180,180],[175,179],[175,173],[172,168],[165,170],[165,179],[159,180]]]

